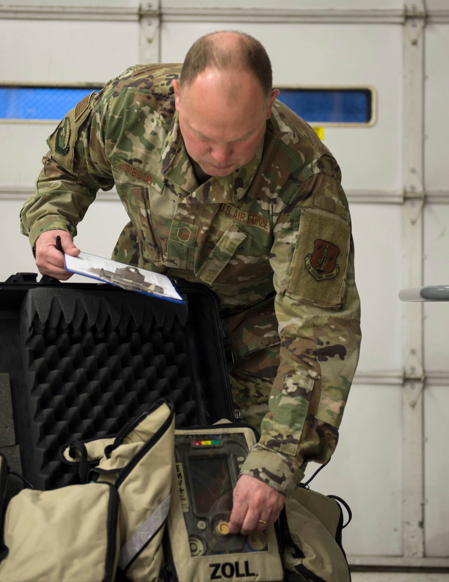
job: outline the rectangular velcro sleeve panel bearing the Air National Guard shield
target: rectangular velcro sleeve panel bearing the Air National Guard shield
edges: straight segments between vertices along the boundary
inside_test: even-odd
[[[341,305],[351,230],[330,212],[305,208],[300,219],[286,294],[319,307]]]

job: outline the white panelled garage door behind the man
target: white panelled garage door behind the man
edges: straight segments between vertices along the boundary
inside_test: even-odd
[[[265,45],[275,84],[376,88],[375,126],[325,127],[351,204],[364,337],[340,443],[314,487],[351,505],[351,563],[449,567],[449,305],[397,298],[402,286],[449,279],[447,0],[427,1],[427,12],[421,0],[33,4],[0,6],[1,80],[106,81],[238,29]],[[35,270],[18,214],[53,127],[0,123],[0,280]],[[76,242],[108,256],[125,222],[114,194],[99,194]]]

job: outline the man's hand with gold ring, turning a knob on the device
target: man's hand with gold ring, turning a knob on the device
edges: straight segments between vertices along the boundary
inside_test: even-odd
[[[270,485],[250,475],[241,475],[234,489],[229,533],[248,535],[252,531],[262,531],[272,526],[285,500],[285,495]]]

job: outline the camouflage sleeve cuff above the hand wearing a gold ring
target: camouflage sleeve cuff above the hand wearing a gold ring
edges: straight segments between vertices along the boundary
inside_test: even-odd
[[[243,463],[241,475],[250,475],[284,495],[290,495],[300,484],[304,471],[291,462],[291,457],[257,443]]]

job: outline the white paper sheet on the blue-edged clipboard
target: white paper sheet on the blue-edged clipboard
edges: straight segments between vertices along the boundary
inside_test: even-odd
[[[117,287],[122,287],[122,285],[117,282],[108,281],[107,278],[99,276],[99,271],[103,269],[105,272],[115,273],[117,269],[129,268],[129,265],[126,265],[123,262],[111,261],[107,258],[97,257],[96,255],[83,252],[81,252],[77,257],[64,254],[64,264],[67,271],[91,277],[98,281],[111,283],[111,285],[116,285]],[[159,299],[166,299],[168,301],[175,301],[176,303],[185,303],[168,276],[153,271],[147,271],[145,269],[139,269],[137,267],[133,267],[133,269],[137,269],[137,271],[144,277],[145,283],[158,286],[161,289],[161,292],[148,292],[145,289],[134,289],[138,293],[144,293],[145,295],[159,297]]]

